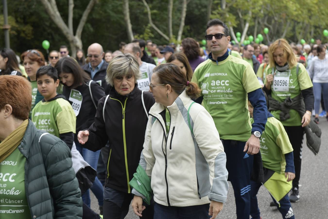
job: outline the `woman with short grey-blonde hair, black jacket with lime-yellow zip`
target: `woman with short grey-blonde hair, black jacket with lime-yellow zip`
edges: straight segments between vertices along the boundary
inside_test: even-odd
[[[77,135],[82,147],[92,151],[109,142],[103,208],[106,219],[124,218],[133,198],[129,182],[140,160],[148,112],[155,102],[151,93],[139,90],[140,77],[139,64],[133,55],[116,55],[106,75],[112,89],[98,101],[89,129]],[[153,218],[152,206],[147,211],[143,218]]]

